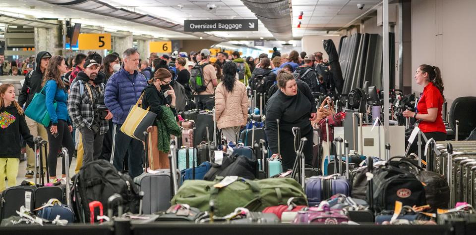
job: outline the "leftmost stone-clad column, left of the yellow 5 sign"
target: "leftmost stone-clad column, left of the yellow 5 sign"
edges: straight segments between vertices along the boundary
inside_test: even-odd
[[[52,55],[63,55],[63,41],[61,21],[44,20],[51,23],[59,23],[55,28],[35,27],[35,51],[46,50]]]

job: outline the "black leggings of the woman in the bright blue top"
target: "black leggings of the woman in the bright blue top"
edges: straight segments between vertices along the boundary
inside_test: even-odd
[[[56,165],[58,164],[58,153],[61,151],[61,147],[64,146],[68,149],[69,165],[71,165],[74,153],[74,143],[71,132],[69,132],[68,124],[64,120],[58,120],[58,136],[56,138],[51,134],[50,128],[51,126],[47,128],[48,143],[50,146],[48,150],[48,171],[50,172],[50,177],[56,177]],[[61,174],[66,174],[64,158],[62,159]]]

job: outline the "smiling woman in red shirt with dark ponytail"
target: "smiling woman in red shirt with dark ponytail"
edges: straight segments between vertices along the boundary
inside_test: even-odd
[[[444,85],[440,69],[422,64],[415,72],[415,80],[416,84],[424,87],[423,93],[416,105],[416,113],[405,110],[403,116],[422,119],[418,127],[428,140],[433,138],[435,141],[445,141],[446,127],[442,118]]]

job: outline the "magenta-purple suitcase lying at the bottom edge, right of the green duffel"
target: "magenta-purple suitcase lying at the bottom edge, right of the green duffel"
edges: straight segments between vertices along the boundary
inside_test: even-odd
[[[324,206],[309,207],[308,210],[298,211],[293,224],[325,224],[338,225],[349,222],[349,217],[342,209],[330,209],[328,203]]]

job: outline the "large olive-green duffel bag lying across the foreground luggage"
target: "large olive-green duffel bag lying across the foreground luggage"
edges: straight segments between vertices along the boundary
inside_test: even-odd
[[[209,211],[210,200],[213,200],[217,216],[230,214],[238,207],[262,211],[268,206],[287,205],[291,197],[300,198],[298,201],[301,205],[307,205],[306,194],[297,181],[291,178],[254,181],[238,178],[226,187],[213,187],[222,179],[223,177],[216,177],[215,181],[184,181],[172,198],[172,205],[188,204],[201,211]]]

